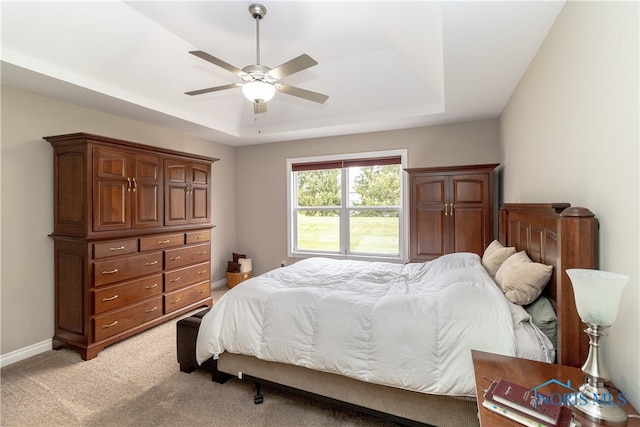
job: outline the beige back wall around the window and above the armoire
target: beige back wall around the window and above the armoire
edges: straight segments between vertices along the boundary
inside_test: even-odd
[[[497,163],[498,121],[239,147],[236,151],[238,251],[254,273],[287,258],[286,159],[406,148],[408,167]]]

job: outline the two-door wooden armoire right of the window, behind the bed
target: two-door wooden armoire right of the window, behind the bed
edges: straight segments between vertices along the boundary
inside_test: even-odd
[[[494,169],[498,164],[407,169],[409,260],[452,252],[481,255],[494,238]]]

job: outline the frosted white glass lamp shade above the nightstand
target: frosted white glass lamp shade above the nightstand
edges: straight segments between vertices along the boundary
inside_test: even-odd
[[[567,274],[573,284],[573,295],[582,321],[611,326],[618,315],[622,290],[629,276],[581,268],[568,269]]]

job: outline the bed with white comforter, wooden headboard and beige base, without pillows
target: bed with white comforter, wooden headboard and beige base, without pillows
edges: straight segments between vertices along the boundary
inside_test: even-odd
[[[546,335],[531,328],[525,335],[537,338],[541,351],[530,358],[552,357],[571,366],[585,360],[587,342],[564,271],[597,268],[597,235],[593,213],[566,203],[505,204],[500,209],[499,244],[552,267],[542,297],[556,314],[556,345],[548,352]],[[451,254],[407,265],[370,263],[365,270],[356,261],[296,264],[243,282],[216,303],[198,332],[199,363],[214,359],[219,373],[405,425],[477,425],[469,350],[520,355],[516,351],[521,348],[515,331],[517,304],[507,302],[480,255]],[[345,272],[346,280],[339,280]],[[313,279],[320,274],[323,286],[317,287]],[[431,279],[435,282],[427,283]],[[431,303],[423,302],[423,293],[434,292],[435,299],[426,299]],[[327,300],[326,310],[311,313]],[[287,307],[297,310],[293,316],[284,314]],[[469,317],[474,310],[482,323]],[[434,312],[438,316],[429,317]],[[282,321],[282,316],[290,317]],[[400,326],[400,317],[409,324]],[[333,331],[331,342],[324,329]],[[412,356],[408,347],[420,352]],[[256,403],[262,398],[258,388]]]

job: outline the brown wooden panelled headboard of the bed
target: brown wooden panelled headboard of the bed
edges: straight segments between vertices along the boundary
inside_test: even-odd
[[[576,309],[569,268],[598,268],[598,220],[569,203],[505,203],[499,214],[500,242],[553,266],[543,294],[558,316],[557,363],[581,367],[589,340]]]

